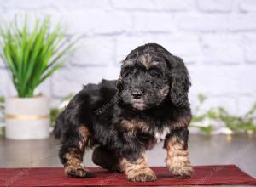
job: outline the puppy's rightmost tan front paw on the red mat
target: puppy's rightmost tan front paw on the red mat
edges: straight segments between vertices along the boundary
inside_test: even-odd
[[[167,163],[169,171],[179,178],[191,178],[193,167],[190,161],[183,161],[182,157],[172,158],[171,163]]]

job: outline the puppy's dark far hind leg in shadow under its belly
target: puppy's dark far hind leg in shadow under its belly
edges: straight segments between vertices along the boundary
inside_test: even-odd
[[[96,147],[92,154],[92,161],[109,172],[122,172],[119,156],[113,150],[108,150],[106,147]]]

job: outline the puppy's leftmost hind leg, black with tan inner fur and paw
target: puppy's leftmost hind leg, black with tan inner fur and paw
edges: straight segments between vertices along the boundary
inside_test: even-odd
[[[91,177],[90,172],[83,164],[84,150],[88,146],[89,139],[90,132],[85,126],[68,129],[67,133],[62,137],[59,156],[68,177]]]

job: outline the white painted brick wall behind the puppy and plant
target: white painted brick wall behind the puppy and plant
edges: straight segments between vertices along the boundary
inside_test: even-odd
[[[0,0],[0,18],[51,14],[82,36],[78,51],[37,92],[53,99],[81,85],[114,79],[131,49],[158,42],[188,65],[189,94],[206,94],[203,108],[242,113],[256,101],[255,0]],[[0,22],[1,24],[1,22]],[[0,61],[0,95],[15,94]]]

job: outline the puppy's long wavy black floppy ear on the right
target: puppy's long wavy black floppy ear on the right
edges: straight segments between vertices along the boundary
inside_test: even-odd
[[[184,65],[183,59],[172,54],[169,54],[166,59],[170,68],[171,89],[169,94],[172,104],[177,107],[188,105],[188,93],[191,83],[189,81],[189,72]]]

